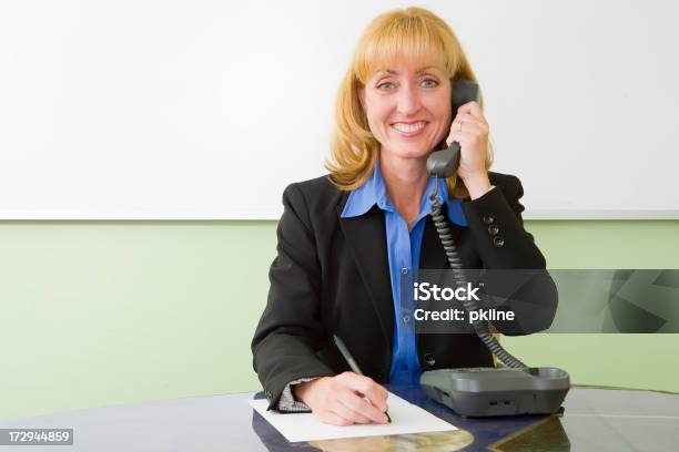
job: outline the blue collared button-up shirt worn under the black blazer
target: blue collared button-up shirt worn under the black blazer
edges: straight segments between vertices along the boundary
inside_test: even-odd
[[[435,179],[429,179],[427,189],[419,204],[419,214],[415,219],[413,228],[408,225],[392,204],[382,178],[379,162],[375,163],[375,170],[371,178],[361,187],[349,193],[346,205],[342,210],[342,217],[355,217],[367,213],[374,205],[384,212],[386,226],[387,255],[389,259],[389,277],[392,282],[392,295],[394,299],[394,348],[392,350],[392,369],[389,371],[389,383],[415,384],[419,382],[422,367],[417,357],[417,343],[415,337],[415,320],[413,318],[414,306],[412,297],[401,296],[401,275],[419,269],[419,251],[424,236],[426,216],[429,215],[429,195],[434,189]],[[439,179],[436,179],[439,181]],[[447,201],[448,218],[450,222],[467,226],[467,219],[462,209],[459,199],[448,199],[448,188],[442,181],[438,194]]]

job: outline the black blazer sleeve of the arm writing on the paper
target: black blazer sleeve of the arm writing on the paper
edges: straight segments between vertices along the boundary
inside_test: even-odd
[[[268,298],[252,340],[254,370],[270,410],[291,381],[335,374],[316,356],[327,342],[320,319],[321,268],[308,208],[295,184],[285,189],[283,206]]]

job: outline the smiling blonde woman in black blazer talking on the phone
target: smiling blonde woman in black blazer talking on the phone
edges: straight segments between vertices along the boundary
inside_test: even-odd
[[[452,111],[458,79],[476,80],[453,31],[427,10],[379,16],[358,42],[337,95],[331,175],[283,194],[268,301],[252,342],[270,409],[311,409],[338,425],[382,423],[387,391],[379,383],[493,366],[475,335],[416,337],[398,282],[411,270],[447,267],[428,215],[434,183],[425,164],[453,142],[459,168],[439,195],[464,267],[545,268],[523,228],[519,181],[488,172],[482,106]],[[520,332],[547,328],[555,308],[556,300],[534,307],[547,322]],[[343,372],[333,335],[365,376]]]

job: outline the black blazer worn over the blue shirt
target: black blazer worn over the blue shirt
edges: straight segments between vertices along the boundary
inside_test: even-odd
[[[499,173],[489,173],[489,178],[495,188],[462,204],[468,227],[449,223],[464,268],[545,268],[543,254],[523,226],[519,179]],[[292,184],[283,194],[268,300],[252,340],[254,369],[270,409],[293,380],[349,370],[332,335],[344,339],[366,376],[388,381],[394,304],[384,213],[374,206],[362,216],[341,218],[346,199],[347,193],[327,176]],[[432,217],[426,220],[419,266],[448,268]],[[497,234],[488,232],[490,224],[499,228]],[[523,307],[530,306],[524,316],[530,325],[524,323],[523,331],[495,327],[511,335],[546,329],[556,304],[549,279],[540,300],[515,307],[519,318]],[[417,350],[423,370],[493,366],[490,352],[475,335],[418,335]]]

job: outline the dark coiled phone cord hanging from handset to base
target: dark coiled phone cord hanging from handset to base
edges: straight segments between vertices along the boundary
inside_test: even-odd
[[[462,260],[457,254],[457,249],[455,248],[455,240],[453,240],[453,235],[450,234],[450,229],[448,228],[448,222],[445,216],[440,213],[442,202],[438,198],[438,183],[440,177],[435,177],[434,191],[429,196],[432,201],[432,218],[434,219],[434,225],[436,226],[436,232],[438,233],[438,237],[440,238],[440,243],[446,251],[446,257],[448,258],[448,264],[450,264],[450,268],[453,269],[453,275],[456,284],[464,284],[465,276],[463,273]],[[444,179],[445,183],[445,179]],[[472,312],[474,310],[478,310],[479,307],[476,304],[476,300],[466,300],[463,302],[467,312]],[[474,327],[474,331],[480,338],[480,340],[488,347],[490,352],[497,357],[506,367],[509,368],[525,368],[527,367],[520,360],[511,356],[503,346],[499,345],[497,339],[490,333],[488,330],[488,325],[485,320],[475,320],[472,322]]]

